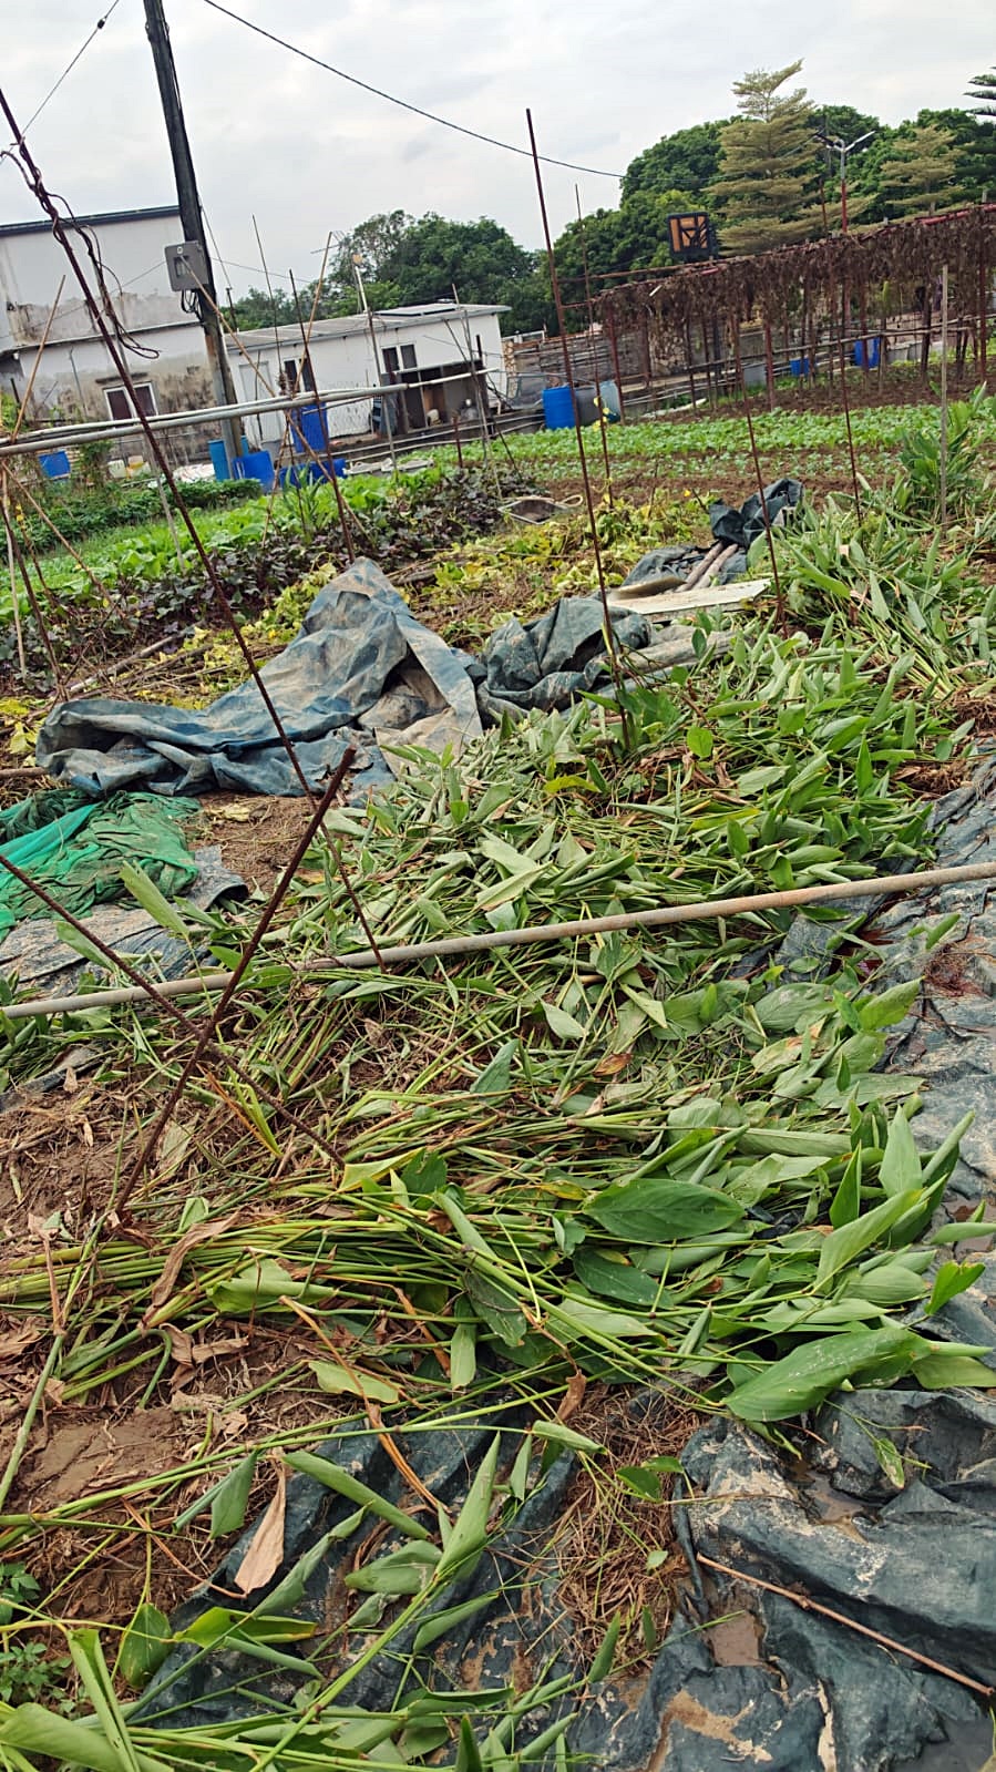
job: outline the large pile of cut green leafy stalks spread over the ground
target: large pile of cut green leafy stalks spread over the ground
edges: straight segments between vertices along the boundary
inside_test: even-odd
[[[877,553],[860,533],[879,565],[900,548],[899,528],[886,525]],[[626,725],[615,703],[590,700],[496,730],[457,762],[408,751],[402,778],[363,813],[330,815],[223,1022],[243,1074],[211,1054],[129,1200],[112,1180],[73,1216],[50,1209],[35,1246],[0,1276],[12,1334],[55,1329],[57,1310],[55,1340],[39,1334],[25,1356],[27,1395],[37,1380],[50,1423],[96,1398],[163,1403],[177,1384],[193,1389],[198,1361],[216,1373],[229,1361],[230,1387],[214,1377],[211,1395],[218,1421],[241,1414],[239,1449],[207,1435],[183,1462],[133,1483],[97,1480],[71,1501],[32,1496],[27,1465],[0,1517],[5,1558],[35,1574],[58,1533],[90,1559],[122,1531],[158,1545],[198,1508],[225,1538],[257,1494],[259,1453],[284,1448],[307,1469],[301,1453],[324,1409],[362,1409],[390,1428],[454,1407],[473,1419],[512,1400],[528,1411],[533,1444],[578,1449],[603,1508],[617,1490],[627,1504],[659,1497],[666,1508],[668,1458],[610,1469],[597,1441],[565,1425],[583,1382],[638,1384],[670,1405],[725,1407],[760,1426],[792,1421],[842,1384],[996,1382],[987,1350],[932,1329],[978,1274],[959,1244],[991,1226],[977,1216],[932,1228],[962,1129],[938,1150],[916,1146],[916,1079],[881,1069],[914,987],[860,943],[852,913],[810,914],[826,976],[815,959],[785,959],[789,911],[392,975],[328,969],[330,952],[365,944],[328,840],[379,943],[852,881],[927,859],[927,808],[906,778],[964,751],[950,689],[984,675],[991,617],[978,587],[943,579],[936,592],[948,657],[939,627],[920,641],[909,597],[886,602],[904,622],[897,657],[874,599],[840,558],[824,569],[831,540],[819,525],[780,546],[805,633],[785,638],[751,617],[721,659],[702,634],[695,670],[633,684]],[[914,583],[916,551],[907,533],[890,594]],[[852,546],[844,558],[858,579]],[[932,606],[938,576],[914,590],[918,608]],[[197,927],[222,964],[243,934],[209,914]],[[128,1175],[135,1120],[149,1125],[190,1053],[165,1019],[101,1012],[7,1021],[4,1037],[0,1060],[21,1079],[76,1042],[103,1053],[103,1090],[131,1090],[112,1177]],[[268,1338],[276,1366],[246,1364],[239,1379],[223,1350],[250,1363]],[[310,1400],[312,1414],[262,1426],[275,1393]],[[133,1724],[117,1694],[149,1678],[168,1623],[147,1588],[128,1634],[113,1621],[97,1641],[60,1618],[64,1577],[51,1604],[41,1595],[2,1628],[30,1643],[55,1621],[92,1715],[76,1712],[73,1733],[58,1735],[53,1705],[0,1710],[2,1753],[18,1772],[43,1754],[101,1768],[296,1772],[315,1760],[392,1763],[393,1747],[425,1765],[448,1742],[468,1772],[528,1763],[503,1692],[482,1696],[487,1715],[452,1698],[434,1733],[424,1712],[342,1710],[354,1671],[390,1650],[404,1620],[434,1628],[429,1613],[450,1604],[457,1558],[477,1554],[496,1508],[507,1515],[521,1501],[526,1469],[528,1451],[500,1490],[496,1469],[482,1467],[457,1520],[436,1529],[432,1513],[416,1515],[415,1549],[411,1522],[388,1517],[408,1550],[393,1540],[349,1588],[351,1630],[376,1636],[337,1627],[308,1643],[303,1705],[259,1726],[152,1735]],[[383,1501],[349,1492],[338,1465],[328,1481],[360,1517],[385,1520]],[[285,1627],[269,1600],[273,1616],[225,1605],[204,1630],[262,1646],[280,1666]],[[526,1699],[542,1703],[535,1689]],[[112,1749],[115,1760],[103,1742],[126,1747]]]

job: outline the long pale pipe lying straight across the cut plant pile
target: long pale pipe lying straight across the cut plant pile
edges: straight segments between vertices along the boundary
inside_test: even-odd
[[[328,960],[294,966],[294,973],[365,971],[370,966],[401,966],[413,960],[448,959],[464,953],[486,953],[491,948],[528,948],[541,941],[572,941],[585,936],[603,936],[617,929],[663,929],[672,923],[700,923],[712,918],[751,916],[757,911],[785,911],[794,905],[835,904],[849,898],[902,898],[936,886],[962,886],[969,881],[996,879],[996,861],[971,861],[959,868],[923,868],[920,874],[884,874],[863,881],[833,881],[828,886],[792,886],[787,891],[744,893],[739,898],[704,898],[696,904],[666,904],[656,911],[620,911],[615,916],[578,918],[572,923],[533,923],[528,929],[496,929],[480,936],[445,936],[440,941],[413,941],[395,948],[358,948],[356,953],[335,953]],[[223,991],[232,973],[197,973],[190,978],[170,978],[156,985],[160,996],[193,996],[198,991]],[[30,1003],[9,1003],[0,1015],[23,1021],[27,1015],[64,1015],[82,1008],[113,1008],[122,1003],[147,1001],[142,989],[90,991],[85,996],[37,998]]]

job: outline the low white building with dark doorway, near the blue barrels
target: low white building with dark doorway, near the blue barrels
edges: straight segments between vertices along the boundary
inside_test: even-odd
[[[236,388],[246,400],[317,386],[340,397],[324,402],[331,438],[363,436],[377,427],[377,402],[369,392],[388,383],[392,431],[404,436],[427,425],[448,425],[461,409],[477,408],[477,388],[493,406],[505,393],[500,314],[484,303],[432,301],[420,308],[388,308],[346,319],[315,321],[305,353],[300,326],[269,326],[227,340]],[[308,374],[310,370],[310,374]],[[477,386],[475,386],[477,381]],[[438,415],[438,416],[432,416]],[[284,413],[246,418],[253,447],[276,454]]]

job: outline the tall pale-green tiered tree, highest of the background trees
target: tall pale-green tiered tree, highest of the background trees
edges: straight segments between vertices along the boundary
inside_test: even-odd
[[[732,252],[785,246],[813,232],[813,108],[803,89],[782,90],[801,66],[757,69],[734,83],[741,115],[721,131],[711,191],[721,243]]]

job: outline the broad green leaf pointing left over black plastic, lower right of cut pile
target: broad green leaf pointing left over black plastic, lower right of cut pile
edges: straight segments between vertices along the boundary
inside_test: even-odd
[[[909,1370],[918,1345],[918,1338],[897,1324],[822,1336],[737,1384],[727,1396],[727,1409],[741,1421],[787,1421],[822,1403],[844,1379],[883,1357],[902,1357]]]

